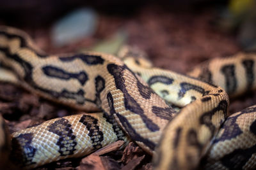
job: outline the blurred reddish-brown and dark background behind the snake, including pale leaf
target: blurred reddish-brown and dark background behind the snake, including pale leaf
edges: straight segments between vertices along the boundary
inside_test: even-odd
[[[180,73],[211,57],[255,50],[255,17],[253,0],[0,0],[0,24],[23,29],[49,53],[125,42]]]

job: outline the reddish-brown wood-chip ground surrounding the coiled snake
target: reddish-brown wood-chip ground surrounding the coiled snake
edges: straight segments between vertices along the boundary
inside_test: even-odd
[[[211,8],[173,12],[147,6],[129,17],[102,14],[94,36],[62,48],[52,47],[47,27],[21,29],[27,31],[46,52],[63,53],[92,46],[99,39],[106,39],[122,28],[129,33],[127,43],[145,50],[155,66],[186,73],[204,60],[232,55],[241,50],[236,43],[236,34],[221,31],[216,20],[218,15]],[[255,101],[255,92],[232,99],[230,112],[255,104]],[[46,101],[19,87],[0,83],[0,112],[8,122],[10,131],[15,132],[50,118],[69,115],[74,110]],[[114,144],[113,148],[115,145],[118,144]],[[92,163],[92,160],[97,164]],[[77,166],[81,169],[152,169],[150,160],[147,153],[130,143],[124,150],[101,156],[61,160],[38,169],[74,169]]]

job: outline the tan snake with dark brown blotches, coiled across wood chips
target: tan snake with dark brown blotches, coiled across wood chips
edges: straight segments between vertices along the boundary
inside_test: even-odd
[[[11,70],[1,78],[79,110],[12,134],[1,117],[1,158],[33,169],[121,139],[153,155],[154,169],[255,168],[256,106],[230,115],[228,95],[255,89],[256,55],[216,58],[186,75],[145,55],[130,46],[116,56],[48,55],[26,32],[1,26],[0,61]]]

